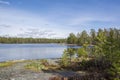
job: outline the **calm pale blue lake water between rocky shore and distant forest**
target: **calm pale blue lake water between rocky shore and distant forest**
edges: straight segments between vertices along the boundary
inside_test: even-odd
[[[60,58],[69,47],[61,44],[0,44],[0,61]]]

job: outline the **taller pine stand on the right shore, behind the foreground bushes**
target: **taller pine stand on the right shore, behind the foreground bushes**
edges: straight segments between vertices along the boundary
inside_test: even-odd
[[[94,29],[91,29],[88,33],[87,31],[82,31],[81,33],[77,33],[75,35],[74,33],[70,33],[67,38],[68,44],[77,44],[77,45],[83,45],[85,43],[95,45],[98,42],[98,37],[106,38],[107,40],[116,39],[118,40],[120,37],[120,29],[116,28],[110,28],[110,29],[98,29],[98,31],[95,31]],[[109,42],[114,42],[110,41]],[[119,42],[119,41],[118,41]]]

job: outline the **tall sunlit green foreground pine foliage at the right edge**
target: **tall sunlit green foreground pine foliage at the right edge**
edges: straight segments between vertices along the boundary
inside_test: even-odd
[[[106,72],[114,77],[120,76],[119,35],[113,29],[110,31],[99,30],[94,47],[96,59],[103,62],[107,60],[111,64],[111,68],[108,68]]]

